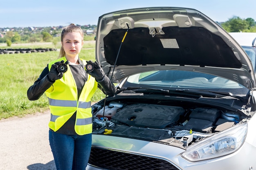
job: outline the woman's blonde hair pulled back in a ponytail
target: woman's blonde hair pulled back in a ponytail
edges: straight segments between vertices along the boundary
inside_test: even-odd
[[[76,26],[75,24],[70,24],[68,26],[66,26],[65,28],[63,28],[62,32],[61,32],[61,43],[63,42],[63,37],[67,34],[67,33],[80,33],[82,36],[82,40],[83,40],[83,30],[79,27]],[[58,57],[64,57],[66,55],[63,46],[61,46],[61,50],[60,53],[58,55]]]

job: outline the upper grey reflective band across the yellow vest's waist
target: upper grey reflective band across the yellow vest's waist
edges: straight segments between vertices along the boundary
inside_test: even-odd
[[[57,100],[57,99],[49,99],[49,105],[51,106],[60,106],[60,107],[76,107],[76,101],[74,100]],[[90,102],[79,102],[78,108],[87,109],[91,107]]]

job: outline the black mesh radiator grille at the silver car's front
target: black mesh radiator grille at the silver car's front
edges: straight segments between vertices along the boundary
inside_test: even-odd
[[[163,159],[95,147],[89,163],[105,170],[179,170]]]

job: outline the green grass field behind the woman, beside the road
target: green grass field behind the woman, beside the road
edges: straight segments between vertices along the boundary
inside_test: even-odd
[[[33,44],[36,48],[46,48],[45,44]],[[31,48],[26,44],[16,48]],[[34,47],[35,48],[35,47]],[[85,41],[79,57],[95,61],[95,41]],[[41,74],[49,61],[58,58],[58,51],[25,54],[1,54],[0,60],[0,119],[13,116],[22,117],[48,109],[45,94],[36,101],[27,99],[27,89]],[[96,102],[105,95],[98,89],[92,98]]]

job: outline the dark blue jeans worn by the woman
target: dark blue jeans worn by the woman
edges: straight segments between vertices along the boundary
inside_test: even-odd
[[[85,170],[92,134],[65,135],[49,130],[49,142],[57,170]]]

